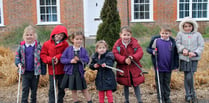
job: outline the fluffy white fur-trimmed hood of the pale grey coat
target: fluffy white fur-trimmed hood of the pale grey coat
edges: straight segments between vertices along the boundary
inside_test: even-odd
[[[180,22],[180,24],[179,24],[179,30],[181,31],[181,32],[185,32],[184,31],[184,29],[183,29],[183,25],[184,25],[184,23],[192,23],[193,24],[193,26],[194,26],[194,30],[192,31],[192,32],[197,32],[197,29],[198,29],[198,24],[197,24],[197,22],[194,20],[194,19],[192,19],[191,17],[185,17],[181,22]]]

